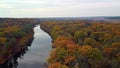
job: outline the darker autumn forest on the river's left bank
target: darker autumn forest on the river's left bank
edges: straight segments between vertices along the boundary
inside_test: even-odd
[[[33,19],[0,18],[0,64],[26,47],[37,23]]]

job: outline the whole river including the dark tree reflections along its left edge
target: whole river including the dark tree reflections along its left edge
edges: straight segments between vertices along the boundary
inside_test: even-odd
[[[0,68],[47,68],[51,37],[40,26],[34,27],[34,40]],[[29,47],[30,46],[30,47]]]

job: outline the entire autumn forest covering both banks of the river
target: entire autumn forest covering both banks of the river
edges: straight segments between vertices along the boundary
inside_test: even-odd
[[[52,38],[48,68],[120,67],[120,23],[83,19],[0,18],[0,64],[27,47],[37,24]]]

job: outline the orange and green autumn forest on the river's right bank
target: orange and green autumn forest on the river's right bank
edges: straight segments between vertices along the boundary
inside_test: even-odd
[[[119,68],[120,23],[42,21],[53,39],[49,68]]]

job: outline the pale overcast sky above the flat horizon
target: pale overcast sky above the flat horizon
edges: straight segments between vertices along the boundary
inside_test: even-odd
[[[120,0],[0,0],[0,17],[120,16]]]

